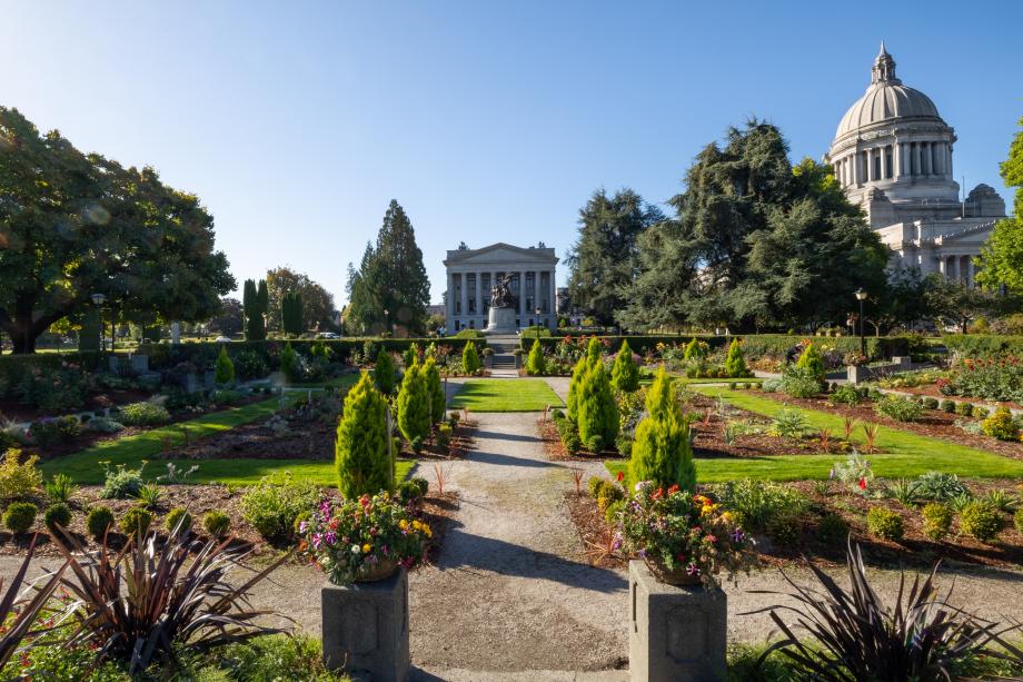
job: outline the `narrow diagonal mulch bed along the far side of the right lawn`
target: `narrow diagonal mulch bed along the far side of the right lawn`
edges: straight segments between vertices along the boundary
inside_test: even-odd
[[[964,419],[959,415],[950,414],[940,409],[924,409],[923,417],[916,422],[897,422],[886,416],[878,415],[874,412],[873,404],[866,403],[861,405],[833,404],[825,398],[792,398],[775,396],[774,394],[763,392],[749,392],[753,395],[767,397],[777,402],[784,402],[787,405],[805,407],[807,409],[817,409],[830,412],[840,416],[856,418],[861,424],[873,422],[891,428],[898,428],[922,436],[930,436],[950,443],[957,443],[977,449],[1004,455],[1013,459],[1023,459],[1023,443],[1013,441],[999,441],[991,436],[981,434],[971,434],[964,432],[955,425],[959,419]],[[974,419],[971,419],[974,421]]]

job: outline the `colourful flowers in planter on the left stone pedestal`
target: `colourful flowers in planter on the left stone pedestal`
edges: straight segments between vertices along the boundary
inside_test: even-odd
[[[433,535],[428,524],[388,493],[340,504],[325,500],[298,530],[299,551],[336,585],[386,577],[399,565],[419,565]]]

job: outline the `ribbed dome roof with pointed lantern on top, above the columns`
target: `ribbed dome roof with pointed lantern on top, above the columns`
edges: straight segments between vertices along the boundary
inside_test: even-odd
[[[932,119],[941,121],[937,107],[931,98],[895,78],[895,60],[881,46],[874,61],[873,78],[866,93],[856,100],[838,123],[835,139],[896,118]]]

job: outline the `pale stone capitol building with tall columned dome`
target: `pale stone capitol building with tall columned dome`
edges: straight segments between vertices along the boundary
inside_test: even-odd
[[[972,285],[973,259],[1005,217],[1005,202],[987,185],[960,199],[955,141],[931,98],[895,77],[895,60],[881,43],[871,85],[842,118],[824,158],[892,249],[892,266]]]

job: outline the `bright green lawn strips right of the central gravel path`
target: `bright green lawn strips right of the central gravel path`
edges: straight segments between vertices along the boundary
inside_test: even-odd
[[[736,407],[768,417],[786,408],[778,401],[747,393],[712,387],[705,387],[701,392],[715,397],[722,395]],[[788,408],[792,409],[791,406]],[[817,409],[799,409],[813,428],[831,428],[833,434],[843,432],[841,416]],[[853,441],[863,441],[863,434],[858,428],[853,434]],[[878,448],[885,451],[884,454],[864,456],[871,461],[874,473],[886,478],[918,476],[928,471],[971,478],[1023,477],[1023,462],[1017,459],[897,428],[881,426],[875,443]],[[746,477],[772,481],[826,478],[832,465],[840,459],[842,455],[698,458],[696,476],[702,483]],[[625,467],[626,464],[620,461],[607,463],[612,474],[625,471]]]

